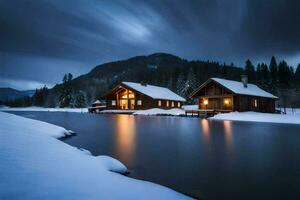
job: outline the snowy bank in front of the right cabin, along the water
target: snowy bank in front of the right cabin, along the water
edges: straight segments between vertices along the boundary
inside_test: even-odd
[[[269,123],[285,123],[300,124],[300,114],[273,114],[258,112],[231,112],[217,114],[210,119],[212,120],[232,120],[232,121],[251,121],[251,122],[269,122]]]

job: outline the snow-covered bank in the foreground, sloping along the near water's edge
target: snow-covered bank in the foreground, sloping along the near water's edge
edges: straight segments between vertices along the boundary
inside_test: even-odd
[[[62,127],[0,112],[0,199],[188,199],[59,141]],[[115,173],[119,172],[119,173]]]

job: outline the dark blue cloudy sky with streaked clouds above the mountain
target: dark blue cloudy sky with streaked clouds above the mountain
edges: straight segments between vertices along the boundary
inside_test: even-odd
[[[66,72],[155,52],[300,62],[298,0],[0,0],[0,87],[52,86]]]

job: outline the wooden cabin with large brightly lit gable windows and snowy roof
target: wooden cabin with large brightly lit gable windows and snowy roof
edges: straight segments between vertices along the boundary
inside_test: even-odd
[[[185,102],[168,88],[133,82],[119,83],[102,99],[106,100],[106,109],[122,110],[181,108]]]

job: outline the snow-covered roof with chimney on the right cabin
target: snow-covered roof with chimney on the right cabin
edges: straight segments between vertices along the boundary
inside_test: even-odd
[[[217,83],[221,84],[225,88],[231,90],[235,94],[244,94],[244,95],[251,95],[251,96],[259,96],[259,97],[268,97],[268,98],[278,98],[273,94],[266,92],[254,84],[248,83],[247,87],[244,87],[242,82],[239,81],[232,81],[226,80],[221,78],[211,78],[211,80],[216,81]]]

